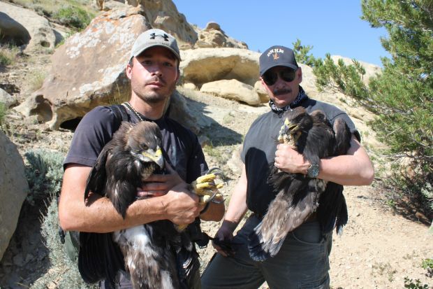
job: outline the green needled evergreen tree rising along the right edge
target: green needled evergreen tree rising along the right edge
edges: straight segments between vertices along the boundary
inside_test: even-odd
[[[314,67],[318,87],[351,95],[377,115],[372,128],[395,160],[392,185],[433,212],[433,1],[362,0],[362,19],[385,27],[381,38],[391,59],[362,83],[360,65],[334,64],[327,55]]]

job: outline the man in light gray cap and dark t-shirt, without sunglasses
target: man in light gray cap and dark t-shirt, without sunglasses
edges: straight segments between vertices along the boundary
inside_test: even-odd
[[[210,203],[204,209],[188,183],[205,174],[207,164],[197,136],[164,115],[170,94],[179,78],[179,48],[173,36],[161,29],[149,29],[133,44],[126,76],[131,80],[131,99],[122,104],[122,119],[113,106],[98,106],[82,118],[75,130],[71,149],[64,161],[64,180],[59,201],[59,220],[66,231],[114,232],[156,220],[177,225],[203,220],[221,220],[223,204]],[[119,106],[117,106],[119,109]],[[126,115],[125,115],[126,114]],[[173,167],[171,174],[152,175],[138,188],[138,197],[126,211],[126,218],[111,202],[97,194],[84,202],[87,176],[122,120],[153,121],[161,129],[163,154]],[[194,260],[197,262],[197,260]],[[199,272],[189,272],[190,283],[179,288],[200,288]],[[108,286],[101,282],[101,287]],[[119,276],[119,288],[131,288],[125,274]]]

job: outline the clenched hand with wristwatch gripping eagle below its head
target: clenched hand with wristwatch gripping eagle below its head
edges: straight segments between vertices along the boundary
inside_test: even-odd
[[[274,165],[286,173],[307,174],[310,163],[290,145],[280,143],[275,152]]]

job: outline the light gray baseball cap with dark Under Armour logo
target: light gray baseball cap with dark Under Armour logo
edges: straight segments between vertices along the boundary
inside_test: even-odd
[[[141,52],[154,46],[162,46],[169,49],[180,62],[180,53],[176,39],[161,29],[149,29],[140,34],[132,46],[131,58],[137,57]]]

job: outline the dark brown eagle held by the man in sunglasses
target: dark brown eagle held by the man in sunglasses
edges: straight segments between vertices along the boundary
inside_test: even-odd
[[[291,144],[311,164],[318,164],[324,157],[344,155],[351,146],[351,132],[342,118],[337,118],[332,128],[322,111],[309,114],[303,107],[286,111],[284,118],[278,141]],[[330,232],[334,227],[341,232],[346,225],[348,216],[342,185],[286,173],[273,162],[268,182],[277,196],[249,235],[249,254],[254,260],[263,261],[276,255],[288,232],[314,212],[322,232]]]

